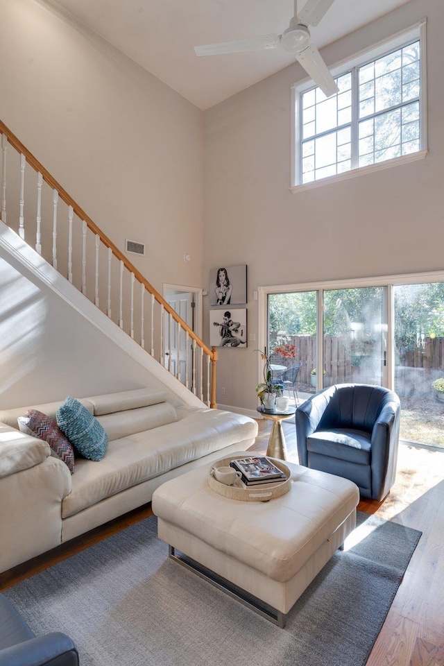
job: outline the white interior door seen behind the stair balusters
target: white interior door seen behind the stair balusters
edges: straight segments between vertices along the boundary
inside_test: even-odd
[[[174,311],[194,330],[194,293],[176,293],[167,296],[167,302]],[[188,338],[188,340],[187,340]],[[178,325],[172,317],[165,318],[165,367],[185,384],[188,374],[188,386],[191,386],[191,338],[184,330],[178,332]],[[188,364],[187,364],[188,357]]]

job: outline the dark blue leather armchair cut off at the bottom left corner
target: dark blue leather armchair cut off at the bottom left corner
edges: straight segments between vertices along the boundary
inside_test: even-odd
[[[0,595],[0,666],[78,666],[71,638],[60,632],[35,637],[17,610]]]

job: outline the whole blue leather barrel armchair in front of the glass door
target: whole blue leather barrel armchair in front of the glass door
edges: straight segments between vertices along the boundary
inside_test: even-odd
[[[398,395],[382,386],[336,384],[296,410],[300,465],[354,481],[379,502],[395,482]]]

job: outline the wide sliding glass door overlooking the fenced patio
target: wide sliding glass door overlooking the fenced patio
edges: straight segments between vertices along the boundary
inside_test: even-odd
[[[268,292],[266,345],[293,348],[273,363],[282,372],[300,361],[299,402],[343,382],[388,386],[400,397],[401,438],[444,448],[444,274],[436,275],[443,281],[401,276]]]

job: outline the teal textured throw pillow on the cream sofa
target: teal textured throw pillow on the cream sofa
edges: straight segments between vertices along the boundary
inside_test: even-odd
[[[56,420],[60,430],[84,458],[103,458],[108,435],[99,421],[76,398],[66,398],[57,410]]]

